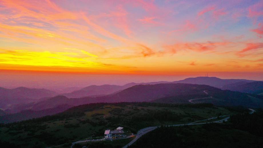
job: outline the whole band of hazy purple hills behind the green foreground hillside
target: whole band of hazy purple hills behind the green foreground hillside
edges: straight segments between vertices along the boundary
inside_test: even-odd
[[[3,107],[8,109],[2,111],[1,115],[5,116],[1,117],[0,120],[5,122],[21,121],[33,117],[59,113],[73,106],[97,102],[158,102],[182,104],[190,103],[190,99],[207,97],[207,99],[196,100],[196,103],[262,107],[263,97],[260,96],[262,93],[262,83],[261,81],[244,79],[196,77],[173,82],[128,83],[122,86],[91,85],[71,93],[60,95],[46,89],[28,89],[25,87],[19,87],[17,89],[2,88],[0,91],[0,93],[3,94],[1,101],[6,102],[6,105]],[[22,93],[20,93],[21,91]],[[208,94],[204,93],[204,91],[207,91]],[[15,102],[10,102],[9,105],[7,105],[8,101],[6,100]],[[18,115],[20,118],[13,118]]]

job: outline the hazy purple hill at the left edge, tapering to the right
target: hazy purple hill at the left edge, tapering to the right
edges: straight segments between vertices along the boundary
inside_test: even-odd
[[[54,91],[47,89],[31,89],[26,87],[5,89],[0,87],[0,108],[6,109],[14,104],[30,103],[42,97],[55,95],[56,93]]]

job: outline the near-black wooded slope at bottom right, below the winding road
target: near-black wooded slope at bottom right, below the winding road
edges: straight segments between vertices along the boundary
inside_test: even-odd
[[[234,110],[244,111],[235,107]],[[246,132],[248,131],[248,132]],[[239,113],[227,124],[165,127],[143,135],[129,148],[262,147],[263,111]]]

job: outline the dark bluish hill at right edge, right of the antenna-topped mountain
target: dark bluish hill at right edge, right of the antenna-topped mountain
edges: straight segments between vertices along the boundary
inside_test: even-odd
[[[253,93],[253,94],[260,94],[263,95],[263,82],[262,81],[255,81],[255,82],[239,82],[234,83],[231,85],[226,85],[223,89],[228,89],[231,91],[239,91],[242,93]]]

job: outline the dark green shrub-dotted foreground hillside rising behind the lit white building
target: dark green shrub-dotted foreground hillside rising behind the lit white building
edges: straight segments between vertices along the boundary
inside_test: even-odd
[[[114,105],[110,107],[108,105]],[[118,107],[116,107],[118,106]],[[158,109],[155,109],[155,108]],[[90,116],[90,118],[85,118],[85,112],[100,110],[105,108],[111,108],[109,115],[103,113],[95,113]],[[153,109],[151,109],[153,108]],[[77,107],[72,107],[63,113],[59,113],[52,116],[45,116],[37,119],[30,119],[26,121],[20,121],[16,123],[2,124],[2,127],[6,127],[7,130],[4,131],[8,133],[9,136],[22,135],[21,133],[26,133],[26,136],[17,136],[16,140],[23,141],[19,144],[10,140],[9,143],[2,143],[5,147],[26,147],[26,144],[30,143],[30,147],[44,147],[50,145],[59,145],[62,143],[69,143],[71,141],[76,141],[76,136],[71,134],[72,130],[79,129],[83,125],[87,126],[89,129],[84,129],[89,132],[89,136],[101,136],[105,127],[116,128],[124,127],[125,130],[131,133],[137,133],[139,129],[144,127],[149,127],[153,125],[169,124],[176,121],[180,121],[186,117],[190,117],[193,120],[201,119],[195,114],[181,114],[173,112],[172,109],[183,109],[183,108],[210,108],[217,109],[216,106],[210,103],[201,104],[165,104],[165,103],[149,103],[149,102],[124,102],[124,103],[92,103],[86,105],[79,105]],[[242,110],[242,109],[240,109]],[[70,120],[77,120],[75,123],[71,123]],[[51,125],[59,121],[62,125],[58,129],[50,130]],[[45,123],[45,124],[43,124]],[[94,128],[99,127],[99,128]],[[5,129],[5,128],[3,128]],[[58,132],[62,130],[70,131],[68,135],[57,135]],[[0,133],[1,134],[1,133]],[[33,143],[29,141],[31,139],[36,139]],[[0,139],[0,142],[2,140]],[[96,147],[96,145],[94,145]]]

